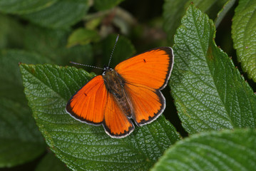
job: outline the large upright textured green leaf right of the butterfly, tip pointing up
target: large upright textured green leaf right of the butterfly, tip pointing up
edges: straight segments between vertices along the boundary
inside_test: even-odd
[[[175,35],[170,78],[183,127],[188,133],[255,128],[255,94],[214,38],[213,21],[190,6]]]

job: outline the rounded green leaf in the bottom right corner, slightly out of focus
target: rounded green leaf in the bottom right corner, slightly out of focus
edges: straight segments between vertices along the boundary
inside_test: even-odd
[[[255,170],[256,130],[200,133],[181,140],[156,163],[155,170]]]

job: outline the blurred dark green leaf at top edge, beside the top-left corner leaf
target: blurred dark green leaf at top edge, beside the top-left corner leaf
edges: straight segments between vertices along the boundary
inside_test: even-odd
[[[88,9],[87,0],[61,0],[46,9],[26,14],[23,17],[47,28],[69,28],[80,21]]]

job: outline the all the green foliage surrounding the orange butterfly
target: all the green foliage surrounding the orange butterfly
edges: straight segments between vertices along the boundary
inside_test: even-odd
[[[249,0],[2,0],[0,167],[253,170],[255,7]],[[165,113],[122,139],[65,110],[96,76],[90,72],[101,73],[69,61],[103,68],[117,34],[112,68],[148,47],[173,45],[175,55]]]

